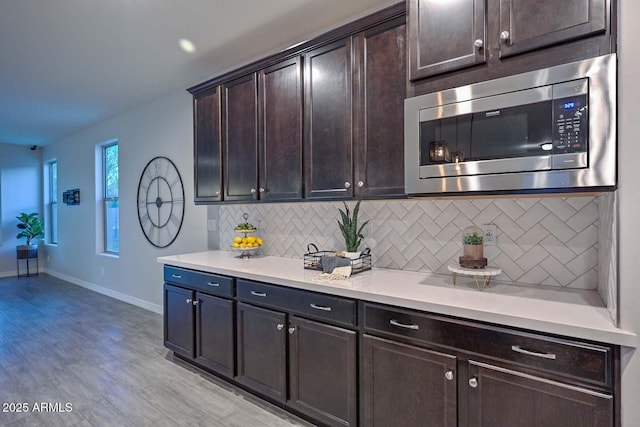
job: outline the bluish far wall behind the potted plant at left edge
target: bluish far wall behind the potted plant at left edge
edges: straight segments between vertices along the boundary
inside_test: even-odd
[[[0,144],[0,277],[15,276],[16,239],[21,212],[42,213],[41,150],[30,150],[22,145]],[[23,261],[21,261],[23,262]],[[21,266],[20,273],[26,268]]]

